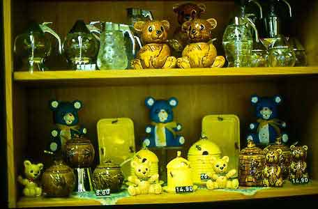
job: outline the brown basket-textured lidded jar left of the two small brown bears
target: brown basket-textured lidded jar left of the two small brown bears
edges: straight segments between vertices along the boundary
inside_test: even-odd
[[[262,171],[264,169],[264,153],[253,141],[248,141],[248,147],[240,153],[239,184],[243,187],[262,186]]]

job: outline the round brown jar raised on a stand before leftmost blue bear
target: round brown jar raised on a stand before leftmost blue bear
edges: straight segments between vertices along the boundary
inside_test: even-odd
[[[89,139],[75,137],[66,142],[66,157],[70,167],[91,167],[94,155],[95,151]]]

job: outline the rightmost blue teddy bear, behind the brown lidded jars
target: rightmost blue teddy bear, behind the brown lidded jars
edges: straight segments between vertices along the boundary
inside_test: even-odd
[[[273,144],[276,138],[281,137],[283,142],[287,142],[288,135],[282,132],[286,123],[277,119],[277,106],[282,102],[280,95],[273,98],[252,95],[251,102],[256,107],[257,123],[250,123],[249,130],[252,133],[248,134],[247,140],[252,140],[255,144]]]

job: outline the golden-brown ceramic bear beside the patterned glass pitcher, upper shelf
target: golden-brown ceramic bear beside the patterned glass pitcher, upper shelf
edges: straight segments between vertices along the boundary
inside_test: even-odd
[[[137,58],[131,61],[132,68],[174,68],[176,66],[176,58],[171,56],[169,45],[167,45],[169,27],[167,20],[135,22],[134,29],[141,33],[144,46],[137,53]]]

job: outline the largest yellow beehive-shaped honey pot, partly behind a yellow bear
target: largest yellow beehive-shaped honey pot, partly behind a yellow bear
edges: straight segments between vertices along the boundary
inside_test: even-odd
[[[221,150],[207,137],[202,136],[188,151],[188,160],[191,164],[191,176],[196,185],[206,185],[209,173],[214,173],[212,157],[220,158]]]

